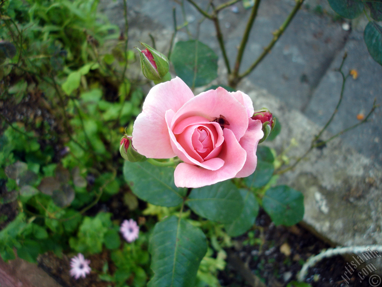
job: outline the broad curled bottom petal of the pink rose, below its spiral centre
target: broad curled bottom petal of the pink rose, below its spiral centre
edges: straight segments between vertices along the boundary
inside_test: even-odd
[[[248,120],[247,120],[248,121]],[[240,146],[230,129],[223,130],[224,142],[219,158],[224,165],[218,170],[206,170],[188,163],[180,163],[175,168],[174,179],[178,187],[200,188],[235,177],[246,161],[246,151]],[[216,158],[215,158],[216,159]]]

